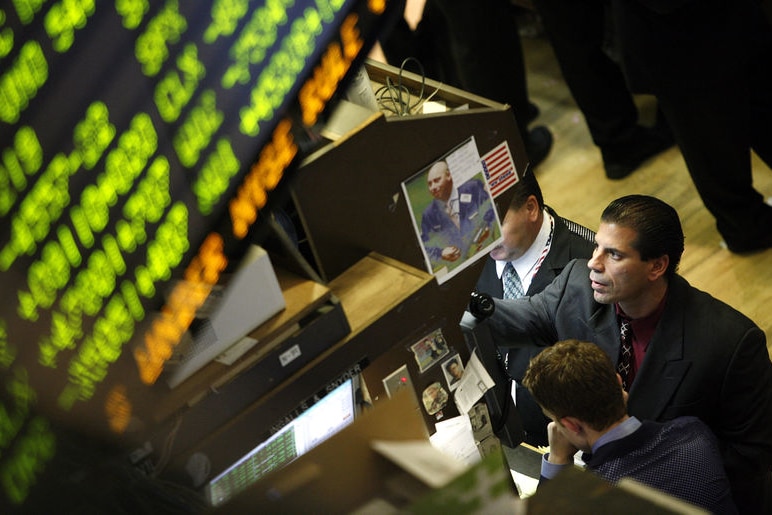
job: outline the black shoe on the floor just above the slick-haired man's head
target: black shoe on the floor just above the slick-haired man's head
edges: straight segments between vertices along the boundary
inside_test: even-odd
[[[627,141],[614,145],[613,149],[601,149],[606,177],[624,179],[644,162],[673,146],[673,136],[661,127],[636,126]]]

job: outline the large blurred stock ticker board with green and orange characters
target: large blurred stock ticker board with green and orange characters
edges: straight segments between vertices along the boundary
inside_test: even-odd
[[[45,471],[55,426],[120,435],[141,411],[132,392],[158,379],[388,3],[2,4],[7,500]]]

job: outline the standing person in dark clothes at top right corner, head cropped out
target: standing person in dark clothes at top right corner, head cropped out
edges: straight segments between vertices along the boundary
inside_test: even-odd
[[[623,69],[656,96],[730,251],[772,248],[772,205],[751,150],[772,167],[772,25],[759,0],[612,0]]]

